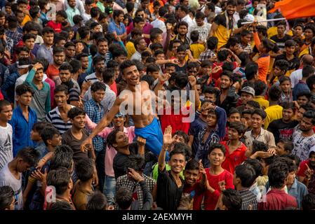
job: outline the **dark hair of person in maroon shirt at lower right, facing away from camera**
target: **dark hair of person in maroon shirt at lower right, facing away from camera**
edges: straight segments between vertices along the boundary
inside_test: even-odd
[[[289,167],[286,162],[274,161],[269,165],[269,185],[273,188],[282,188],[289,174]]]

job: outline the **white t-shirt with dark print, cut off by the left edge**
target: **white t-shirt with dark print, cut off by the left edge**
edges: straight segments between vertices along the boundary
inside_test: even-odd
[[[12,126],[0,126],[0,169],[13,160]]]

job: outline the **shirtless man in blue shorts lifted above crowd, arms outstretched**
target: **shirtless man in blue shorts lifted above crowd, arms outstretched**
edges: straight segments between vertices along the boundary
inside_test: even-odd
[[[126,89],[117,97],[112,109],[100,120],[100,123],[98,123],[88,139],[83,141],[81,151],[87,151],[87,146],[92,144],[93,137],[112,122],[116,113],[125,108],[123,105],[128,105],[127,111],[135,124],[135,134],[146,139],[146,145],[149,151],[152,151],[155,155],[159,155],[163,145],[163,133],[161,131],[161,125],[154,116],[154,111],[152,111],[152,96],[150,94],[152,91],[147,82],[140,82],[140,73],[134,62],[126,60],[121,64],[120,69],[123,74],[123,79],[126,80],[127,83]],[[162,89],[163,83],[165,83],[168,78],[170,78],[168,73],[159,77],[159,83],[154,89],[156,94],[158,90]],[[192,85],[192,90],[195,90],[196,78],[189,77],[189,83]],[[132,99],[130,99],[131,94]],[[196,99],[199,99],[199,96],[196,97]],[[128,102],[127,104],[126,101]],[[131,106],[131,108],[129,106]]]

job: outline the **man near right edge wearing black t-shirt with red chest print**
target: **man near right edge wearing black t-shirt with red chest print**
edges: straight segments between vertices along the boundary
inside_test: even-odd
[[[276,143],[280,139],[292,139],[294,127],[299,123],[293,120],[295,115],[295,106],[292,103],[282,103],[282,118],[273,120],[268,126],[268,131],[274,134]]]

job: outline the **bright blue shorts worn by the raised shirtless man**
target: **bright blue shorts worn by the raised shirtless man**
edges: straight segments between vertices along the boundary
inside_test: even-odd
[[[146,140],[146,146],[159,156],[163,145],[163,133],[159,121],[154,117],[152,123],[141,128],[135,128],[135,135],[140,136]],[[168,152],[166,152],[166,160],[168,160]]]

